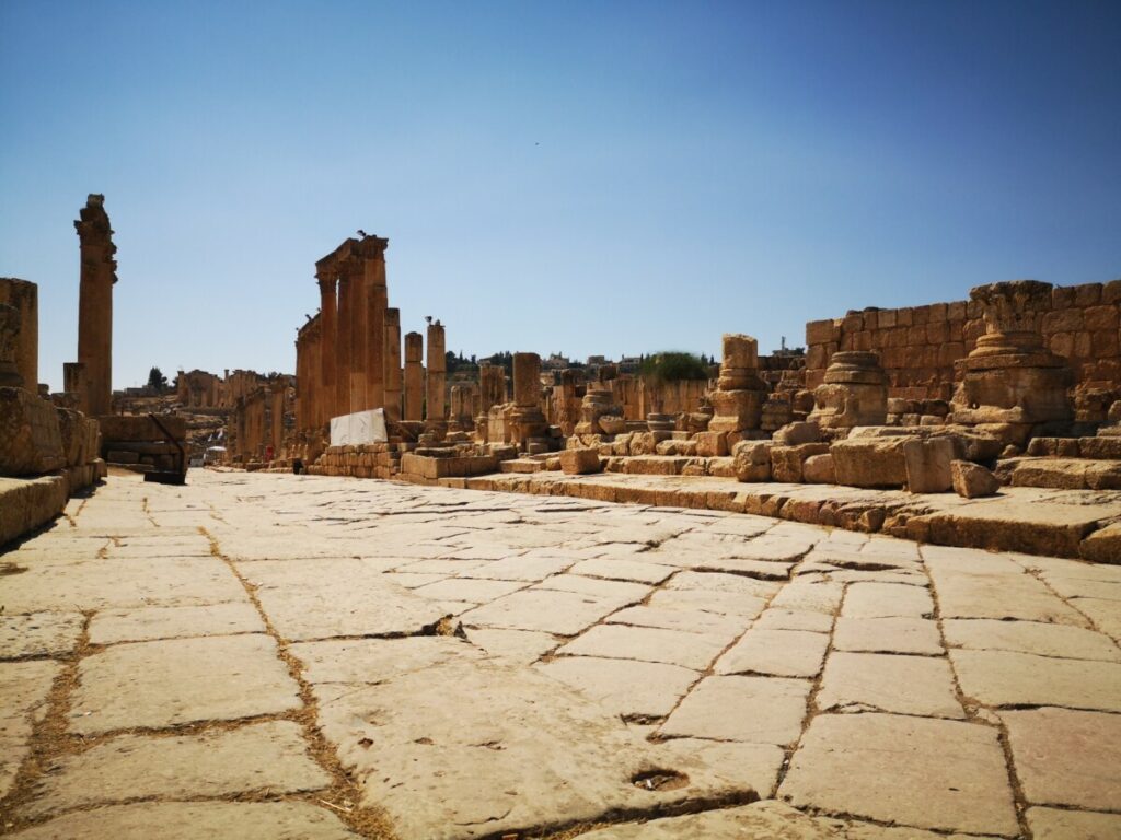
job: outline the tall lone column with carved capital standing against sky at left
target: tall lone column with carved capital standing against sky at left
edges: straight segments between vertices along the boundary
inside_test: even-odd
[[[112,413],[113,283],[117,246],[105,214],[105,197],[90,195],[74,223],[81,241],[82,270],[77,314],[77,361],[85,365],[85,401],[91,417]],[[34,388],[35,384],[28,385]]]

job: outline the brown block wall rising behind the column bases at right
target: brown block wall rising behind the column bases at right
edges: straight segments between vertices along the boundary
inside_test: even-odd
[[[1121,389],[1121,280],[1056,287],[1039,312],[1050,349],[1071,362],[1076,386]],[[806,388],[822,383],[837,351],[876,351],[888,374],[889,395],[948,400],[954,362],[984,333],[981,305],[949,304],[864,309],[806,325]]]

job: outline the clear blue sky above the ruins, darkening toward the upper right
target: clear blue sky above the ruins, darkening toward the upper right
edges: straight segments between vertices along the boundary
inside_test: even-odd
[[[54,389],[87,193],[118,388],[294,371],[358,228],[448,349],[769,352],[1121,276],[1121,2],[0,0],[0,276]]]

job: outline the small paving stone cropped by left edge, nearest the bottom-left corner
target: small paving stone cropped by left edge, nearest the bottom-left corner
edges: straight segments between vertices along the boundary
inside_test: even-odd
[[[0,662],[0,799],[8,795],[29,752],[31,727],[47,713],[62,665],[48,660]]]

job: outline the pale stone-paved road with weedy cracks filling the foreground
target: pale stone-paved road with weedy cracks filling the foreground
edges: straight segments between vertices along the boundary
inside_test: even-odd
[[[0,603],[13,838],[1121,837],[1119,567],[193,472]]]

